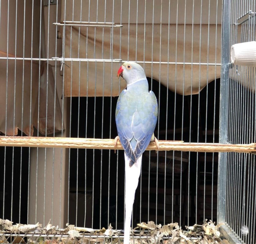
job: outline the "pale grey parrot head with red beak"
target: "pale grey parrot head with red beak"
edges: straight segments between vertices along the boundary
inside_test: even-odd
[[[143,68],[135,62],[125,62],[117,72],[117,77],[119,76],[124,78],[127,85],[141,79],[147,79]]]

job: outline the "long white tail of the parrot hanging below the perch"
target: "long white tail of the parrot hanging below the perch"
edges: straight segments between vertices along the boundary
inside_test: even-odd
[[[124,244],[129,244],[130,240],[130,227],[132,219],[132,206],[134,202],[135,191],[139,182],[139,175],[141,169],[140,156],[137,162],[129,166],[130,158],[124,152],[125,160],[125,221],[124,221]]]

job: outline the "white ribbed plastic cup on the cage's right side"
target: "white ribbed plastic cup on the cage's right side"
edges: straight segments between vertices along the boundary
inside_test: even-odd
[[[256,67],[256,41],[232,45],[230,61],[236,65]]]

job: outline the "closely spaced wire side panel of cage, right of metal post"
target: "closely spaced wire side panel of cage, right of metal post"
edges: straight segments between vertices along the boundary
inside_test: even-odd
[[[255,1],[231,1],[231,45],[255,41]],[[255,68],[229,72],[228,142],[255,142]],[[255,243],[255,156],[228,153],[226,222],[240,241]]]

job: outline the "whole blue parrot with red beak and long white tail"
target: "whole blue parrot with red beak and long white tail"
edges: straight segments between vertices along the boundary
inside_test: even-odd
[[[153,91],[148,91],[148,82],[143,68],[134,62],[124,63],[118,70],[127,83],[117,100],[116,124],[118,136],[124,148],[125,159],[125,223],[124,244],[129,243],[132,206],[138,186],[142,153],[154,137],[158,117],[158,104]]]

